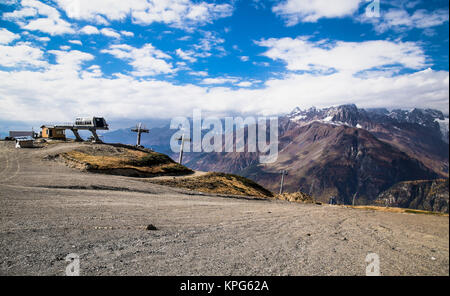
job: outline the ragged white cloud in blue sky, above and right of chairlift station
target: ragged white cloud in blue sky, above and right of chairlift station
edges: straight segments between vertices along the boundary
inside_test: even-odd
[[[109,49],[102,50],[118,59],[126,60],[133,67],[135,76],[153,76],[158,74],[174,73],[173,66],[166,62],[171,57],[156,49],[151,44],[142,48],[135,48],[126,44],[111,45]]]

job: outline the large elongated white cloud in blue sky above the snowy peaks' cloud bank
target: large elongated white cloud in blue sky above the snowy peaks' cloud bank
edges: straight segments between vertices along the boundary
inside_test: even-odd
[[[268,39],[257,42],[268,47],[265,56],[286,62],[293,71],[319,73],[337,70],[352,74],[373,68],[399,65],[409,69],[427,66],[423,50],[414,42],[385,40],[329,43],[306,38]]]

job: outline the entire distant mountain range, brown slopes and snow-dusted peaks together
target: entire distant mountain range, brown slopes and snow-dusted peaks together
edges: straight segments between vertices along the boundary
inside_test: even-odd
[[[190,168],[238,174],[275,192],[279,172],[287,170],[288,192],[369,204],[398,182],[448,178],[448,123],[448,116],[432,109],[296,108],[279,117],[274,163],[259,163],[258,153],[249,152],[186,153],[184,159]],[[169,146],[174,132],[169,126],[150,129],[142,144],[175,158]],[[135,139],[130,130],[104,134],[106,142]]]

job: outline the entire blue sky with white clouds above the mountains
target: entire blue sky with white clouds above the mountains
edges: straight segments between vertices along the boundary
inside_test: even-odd
[[[448,0],[372,2],[0,0],[0,122],[448,113]]]

